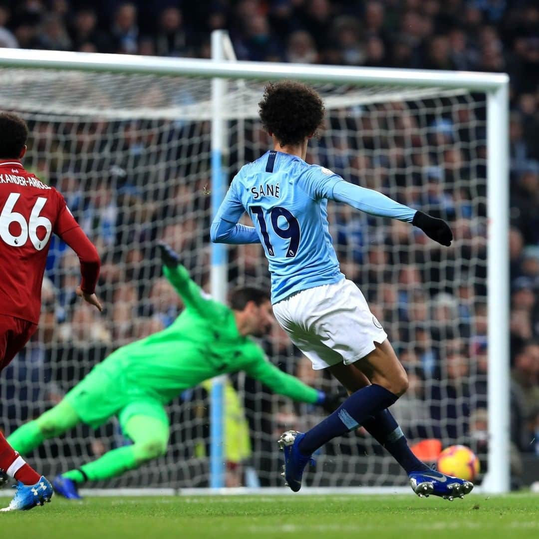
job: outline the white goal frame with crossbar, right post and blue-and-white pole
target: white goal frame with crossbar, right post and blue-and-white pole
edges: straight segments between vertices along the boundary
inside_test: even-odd
[[[214,50],[217,40],[214,37]],[[294,79],[317,85],[340,85],[362,88],[368,95],[391,93],[392,99],[402,100],[422,95],[436,96],[447,91],[463,91],[486,95],[486,146],[487,178],[486,205],[488,220],[487,247],[487,319],[488,319],[488,474],[483,480],[483,492],[503,493],[509,490],[509,190],[508,190],[508,75],[501,73],[473,73],[450,71],[402,70],[392,68],[364,68],[342,66],[297,65],[280,63],[255,63],[226,61],[224,53],[212,60],[189,58],[153,58],[123,56],[117,54],[94,54],[37,50],[0,50],[0,73],[2,77],[11,69],[43,70],[55,73],[86,72],[121,75],[153,75],[155,77],[205,78],[208,99],[199,103],[198,109],[212,122],[211,167],[212,208],[220,203],[229,178],[223,174],[223,150],[226,144],[227,119],[223,107],[229,106],[225,81],[270,81]],[[61,75],[60,75],[61,77]],[[212,79],[212,83],[210,80]],[[205,83],[204,83],[205,84]],[[201,87],[204,86],[201,84]],[[211,95],[211,97],[210,97]],[[328,101],[334,98],[339,106],[339,95],[324,95]],[[397,97],[396,97],[397,96]],[[228,96],[230,97],[230,96]],[[241,98],[241,96],[240,96]],[[243,99],[243,98],[241,98]],[[358,101],[361,102],[361,101]],[[255,104],[255,101],[253,102]],[[250,103],[251,105],[252,103]],[[17,103],[6,105],[0,99],[1,108],[17,110]],[[171,110],[181,114],[185,106]],[[251,107],[244,113],[249,119],[255,115]],[[118,114],[127,114],[120,110]],[[193,113],[195,114],[195,113]],[[235,114],[235,113],[230,113]],[[241,114],[238,115],[238,118]],[[345,178],[346,179],[346,178]],[[213,272],[211,286],[215,296],[226,296],[226,251],[223,246],[212,246]],[[212,395],[222,399],[222,389]],[[212,417],[220,414],[221,406],[214,406]],[[214,460],[211,467],[212,487],[222,487],[223,427],[212,431],[210,452]],[[221,464],[220,464],[221,463]]]

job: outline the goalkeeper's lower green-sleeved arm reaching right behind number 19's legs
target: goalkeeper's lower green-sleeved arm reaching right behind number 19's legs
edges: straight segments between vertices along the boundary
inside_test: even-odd
[[[251,363],[245,372],[268,386],[274,393],[285,395],[293,400],[309,404],[319,404],[327,412],[333,412],[341,404],[341,398],[316,390],[304,384],[295,376],[286,374],[266,360],[264,352],[260,349],[259,357]]]

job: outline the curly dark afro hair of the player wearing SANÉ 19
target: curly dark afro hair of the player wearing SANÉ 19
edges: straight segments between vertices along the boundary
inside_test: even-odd
[[[281,146],[296,146],[316,135],[324,119],[324,103],[313,89],[292,80],[270,82],[258,103],[264,129]]]

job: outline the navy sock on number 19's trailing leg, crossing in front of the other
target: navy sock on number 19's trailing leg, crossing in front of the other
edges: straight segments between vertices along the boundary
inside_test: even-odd
[[[330,416],[305,433],[298,448],[310,455],[329,440],[357,429],[365,420],[391,406],[397,395],[372,384],[348,397]]]

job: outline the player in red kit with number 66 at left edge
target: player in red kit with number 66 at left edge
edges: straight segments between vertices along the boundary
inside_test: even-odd
[[[28,128],[15,114],[0,113],[0,371],[37,329],[41,288],[52,233],[80,260],[77,294],[102,310],[94,290],[101,265],[64,197],[24,170]],[[2,473],[3,472],[3,473]],[[50,501],[52,487],[14,451],[0,433],[2,475],[18,481],[15,497],[3,510],[31,509]]]

